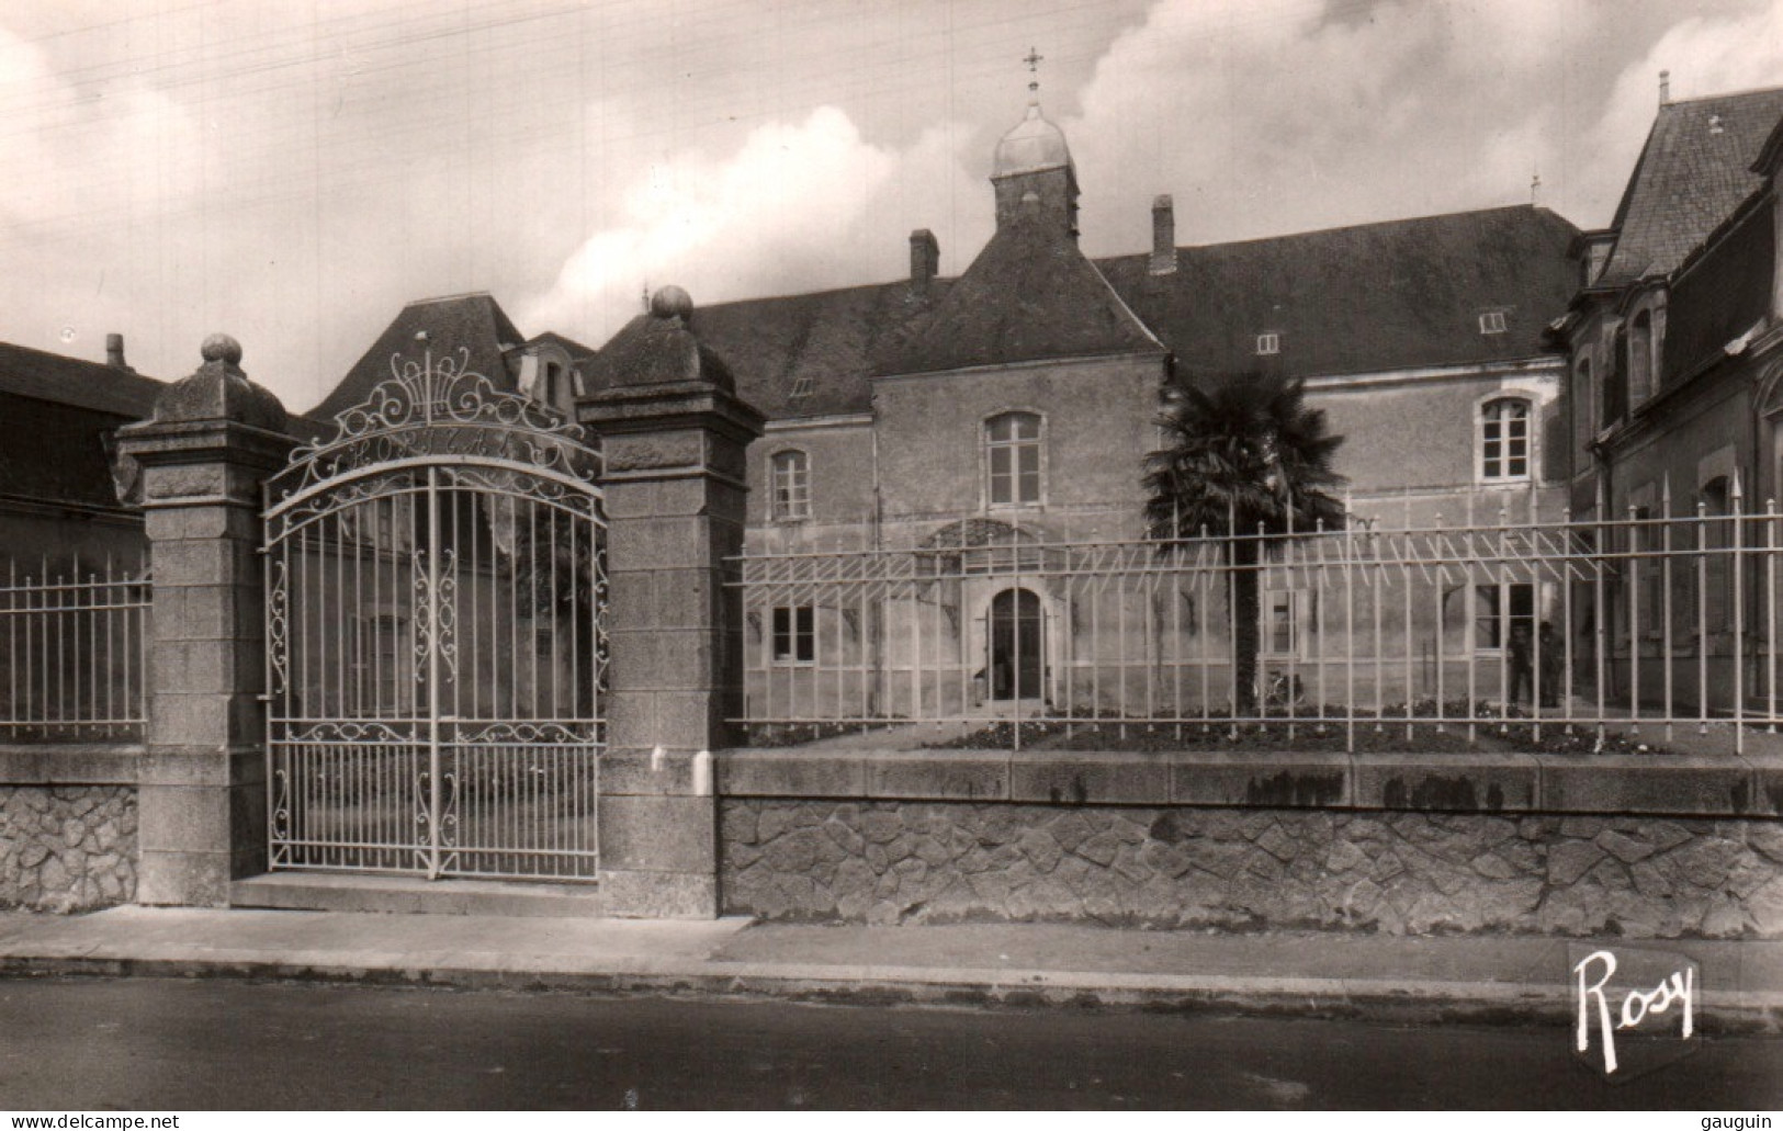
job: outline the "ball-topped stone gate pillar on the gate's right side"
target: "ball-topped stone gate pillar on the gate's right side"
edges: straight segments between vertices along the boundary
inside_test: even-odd
[[[688,330],[686,291],[601,351],[579,403],[606,460],[608,749],[601,892],[612,915],[719,913],[710,751],[742,705],[742,623],[724,587],[744,548],[744,453],[761,414]]]

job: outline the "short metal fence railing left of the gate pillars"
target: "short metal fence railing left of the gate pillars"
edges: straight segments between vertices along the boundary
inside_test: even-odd
[[[75,558],[0,576],[0,742],[141,739],[146,571]]]

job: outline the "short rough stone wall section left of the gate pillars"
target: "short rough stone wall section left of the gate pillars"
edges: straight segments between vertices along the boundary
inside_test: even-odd
[[[134,785],[0,785],[0,906],[136,899]]]

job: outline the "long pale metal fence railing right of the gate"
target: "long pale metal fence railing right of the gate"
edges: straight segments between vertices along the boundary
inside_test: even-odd
[[[1048,542],[979,519],[902,548],[745,555],[735,721],[754,742],[1312,726],[1357,749],[1366,731],[1473,740],[1521,719],[1537,744],[1703,746],[1713,726],[1744,749],[1779,722],[1783,516],[1744,514],[1737,491],[1717,503],[1180,541]]]

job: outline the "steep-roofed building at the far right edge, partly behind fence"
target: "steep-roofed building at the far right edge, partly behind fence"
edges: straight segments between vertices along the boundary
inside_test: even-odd
[[[1614,223],[1585,237],[1590,277],[1553,330],[1571,375],[1574,516],[1651,523],[1610,549],[1672,555],[1621,571],[1606,615],[1573,624],[1582,649],[1606,655],[1612,699],[1703,705],[1706,687],[1706,705],[1726,710],[1735,669],[1769,655],[1763,578],[1738,578],[1737,608],[1726,551],[1763,544],[1735,512],[1763,512],[1778,492],[1779,118],[1783,89],[1664,102]]]

